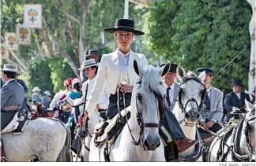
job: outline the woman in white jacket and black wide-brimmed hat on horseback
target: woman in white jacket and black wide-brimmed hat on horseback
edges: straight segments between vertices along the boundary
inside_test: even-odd
[[[99,101],[101,91],[107,83],[107,90],[110,93],[109,105],[107,108],[107,119],[112,119],[119,109],[122,110],[130,105],[134,84],[137,82],[138,76],[134,71],[134,60],[137,65],[146,66],[148,61],[141,53],[134,53],[130,49],[130,45],[134,39],[134,35],[144,35],[143,31],[135,29],[134,20],[118,19],[115,21],[115,28],[105,28],[104,31],[114,34],[115,40],[119,48],[113,53],[104,54],[102,56],[99,72],[96,76],[96,83],[88,98],[88,105],[85,108],[85,115],[89,116]],[[126,98],[123,103],[119,96]],[[118,103],[119,102],[119,108]],[[80,116],[80,124],[85,121],[85,116]],[[197,143],[196,140],[187,138],[179,138],[175,140],[180,152],[188,149]]]

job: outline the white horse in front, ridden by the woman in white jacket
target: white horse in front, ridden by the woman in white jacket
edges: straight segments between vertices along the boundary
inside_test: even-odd
[[[162,76],[169,68],[170,64],[162,68],[140,68],[134,61],[134,70],[139,80],[134,85],[129,107],[130,119],[116,138],[115,144],[108,145],[111,161],[165,161],[164,146],[158,132],[164,116],[166,95]],[[105,142],[104,146],[97,147],[94,139],[95,135],[92,135],[89,160],[105,161],[104,149],[107,144]],[[133,142],[138,144],[134,145]]]

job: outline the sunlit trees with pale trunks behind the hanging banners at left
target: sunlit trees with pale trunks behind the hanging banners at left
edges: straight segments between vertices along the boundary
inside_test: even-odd
[[[35,68],[44,66],[44,63],[49,63],[51,79],[49,79],[49,75],[41,76],[40,79],[42,79],[42,83],[52,80],[55,88],[52,89],[53,87],[49,83],[47,89],[51,89],[53,92],[62,89],[64,79],[77,76],[77,61],[73,53],[69,23],[73,28],[73,38],[77,45],[76,50],[81,64],[85,53],[90,48],[99,49],[100,53],[109,53],[115,49],[113,36],[104,35],[103,43],[100,32],[103,32],[104,28],[112,27],[115,24],[115,19],[123,16],[124,6],[122,1],[115,0],[1,0],[1,3],[2,34],[5,31],[15,31],[15,25],[23,23],[23,5],[25,3],[42,4],[43,29],[32,29],[32,45],[20,46],[15,54],[17,58],[11,56],[7,61],[19,65],[24,72],[30,71],[30,69],[34,71]],[[130,13],[130,18],[137,22],[141,21],[141,13],[143,13],[141,8],[130,4]],[[44,65],[40,65],[40,63]],[[46,73],[42,72],[40,75]],[[32,86],[40,86],[38,82],[33,82],[38,79],[36,78],[38,75],[30,72],[28,76],[28,79],[32,81],[30,83]]]

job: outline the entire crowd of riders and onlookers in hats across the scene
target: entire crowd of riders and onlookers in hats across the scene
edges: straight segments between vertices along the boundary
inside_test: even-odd
[[[134,20],[130,19],[118,19],[115,28],[105,28],[104,31],[114,35],[119,45],[118,49],[112,53],[104,54],[100,62],[98,51],[89,50],[86,60],[79,68],[81,79],[66,79],[64,81],[65,90],[56,93],[52,100],[51,93],[48,90],[43,92],[43,98],[41,98],[40,87],[34,87],[32,90],[33,105],[42,105],[43,111],[51,112],[53,117],[69,124],[70,127],[76,125],[76,123],[82,125],[85,117],[89,116],[94,110],[99,111],[104,120],[111,120],[119,109],[122,110],[130,105],[134,83],[138,79],[134,71],[133,61],[136,60],[137,65],[148,65],[145,55],[134,53],[130,49],[130,45],[135,35],[144,35],[144,32],[136,30]],[[161,66],[164,66],[164,64]],[[173,143],[175,143],[179,152],[183,152],[190,146],[194,146],[198,141],[186,138],[179,127],[178,121],[171,113],[176,102],[175,99],[178,97],[179,85],[175,83],[177,66],[177,64],[171,63],[168,74],[163,77],[168,102],[166,109],[170,110],[165,121],[167,123],[166,128],[174,140]],[[1,85],[1,130],[6,127],[21,105],[27,105],[25,93],[28,91],[24,82],[17,79],[20,72],[17,71],[14,65],[4,65],[2,72],[4,72],[6,83],[3,86]],[[221,128],[219,122],[222,120],[227,122],[234,108],[244,111],[244,100],[251,101],[250,97],[242,91],[243,85],[239,79],[234,79],[232,92],[224,96],[222,91],[211,84],[214,75],[213,69],[198,68],[197,72],[198,74],[206,73],[204,84],[207,92],[205,94],[205,106],[200,113],[201,123],[213,132],[219,131]],[[85,95],[86,92],[87,96]],[[120,100],[118,94],[119,96],[124,94],[125,103]],[[79,105],[83,105],[85,100],[85,110],[79,110]],[[254,101],[255,94],[251,102]],[[75,109],[72,109],[72,107]],[[70,111],[71,109],[72,111]],[[226,115],[224,115],[224,109],[227,111]],[[40,114],[37,113],[34,118],[38,116]]]

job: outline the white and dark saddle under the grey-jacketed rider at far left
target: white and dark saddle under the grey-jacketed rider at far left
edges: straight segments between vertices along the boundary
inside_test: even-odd
[[[15,113],[13,120],[1,131],[1,134],[13,131],[13,135],[19,135],[24,131],[24,127],[28,124],[28,116],[23,109]]]

